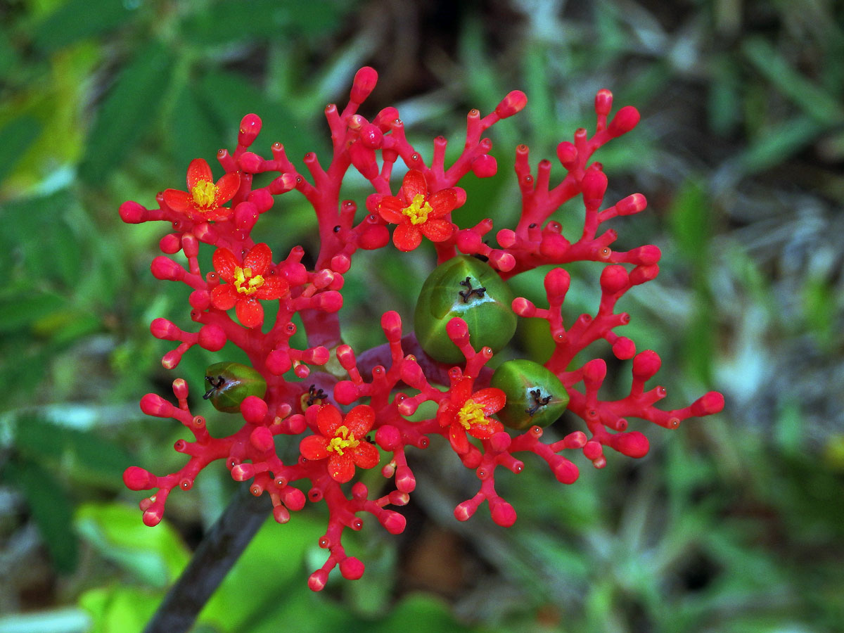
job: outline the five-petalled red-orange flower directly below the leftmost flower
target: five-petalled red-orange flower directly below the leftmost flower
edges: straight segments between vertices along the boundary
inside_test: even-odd
[[[243,266],[228,248],[214,251],[214,269],[225,284],[211,292],[211,305],[218,310],[235,308],[238,320],[246,327],[257,327],[263,322],[263,308],[259,299],[280,299],[289,286],[276,274],[269,272],[273,252],[266,244],[256,244],[243,258]]]

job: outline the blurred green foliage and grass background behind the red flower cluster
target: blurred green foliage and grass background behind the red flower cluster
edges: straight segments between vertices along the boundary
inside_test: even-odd
[[[711,387],[728,409],[648,430],[641,463],[579,463],[565,489],[537,463],[502,476],[519,512],[510,530],[483,509],[453,521],[476,482],[434,446],[411,457],[408,534],[368,522],[349,542],[362,580],[307,590],[324,525],[309,509],[262,529],[196,630],[840,630],[840,3],[3,0],[0,24],[0,633],[140,630],[234,490],[209,468],[154,530],[123,490],[129,464],[181,464],[180,429],[144,419],[137,401],[174,377],[149,322],[186,322],[187,303],[149,274],[161,227],[122,225],[117,207],[181,187],[188,161],[233,145],[247,112],[264,121],[261,148],[324,153],[322,107],[365,63],[381,84],[364,114],[398,103],[422,148],[437,134],[457,147],[468,108],[527,92],[527,110],[491,133],[499,175],[465,183],[464,225],[517,217],[517,143],[534,164],[552,158],[592,126],[599,88],[638,106],[640,128],[598,156],[608,197],[650,201],[614,224],[619,248],[663,249],[660,278],[623,300],[625,335],[663,356],[669,403]],[[361,213],[364,195],[344,188]],[[257,227],[273,251],[314,246],[294,196]],[[566,235],[579,216],[560,211]],[[383,310],[409,321],[414,271],[430,263],[424,249],[358,254],[349,343],[380,344],[370,324]],[[568,322],[599,296],[597,267],[570,272]],[[514,289],[541,302],[543,273]],[[544,360],[535,325],[520,326],[519,346]],[[177,374],[196,384],[213,360],[192,350]],[[629,365],[611,369],[608,396],[622,394]]]

